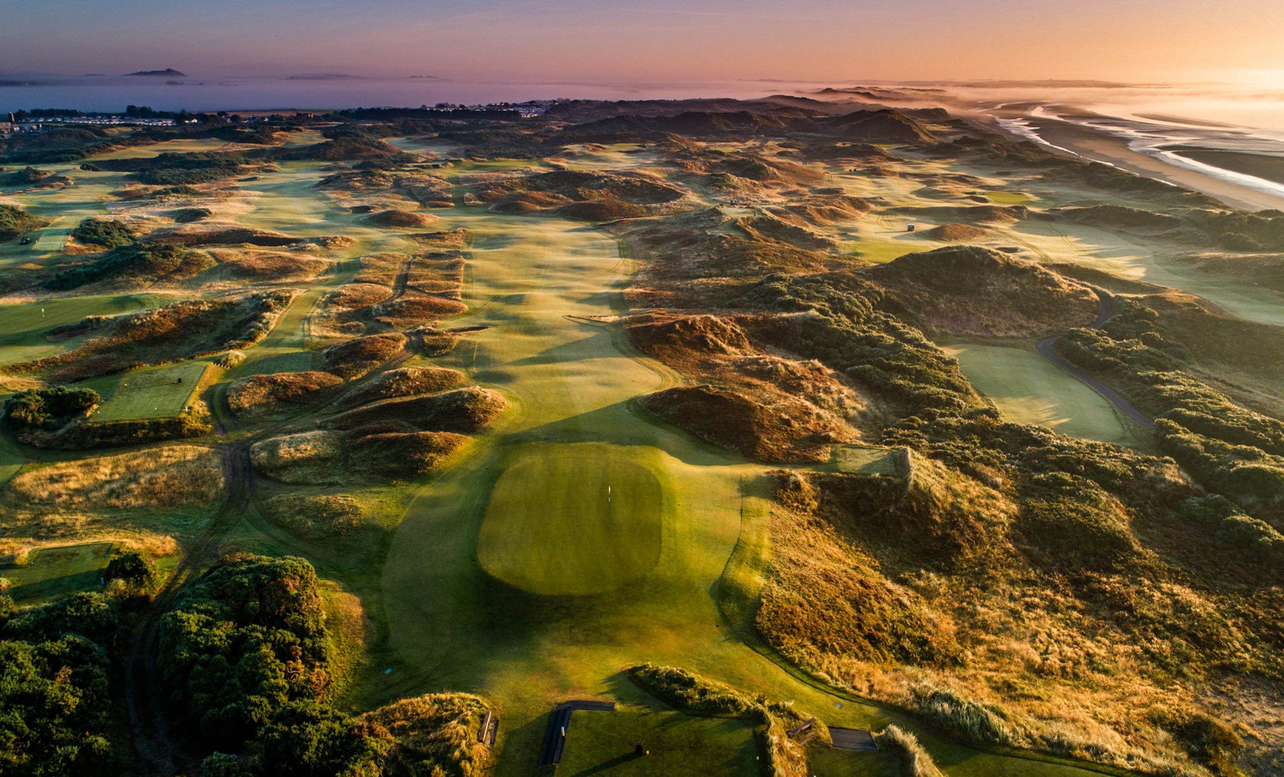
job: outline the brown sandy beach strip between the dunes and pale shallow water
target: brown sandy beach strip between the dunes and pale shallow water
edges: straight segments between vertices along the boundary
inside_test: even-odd
[[[1168,164],[1154,157],[1134,152],[1127,140],[1099,130],[1058,119],[1025,117],[1030,128],[1045,143],[1094,162],[1113,164],[1120,170],[1194,189],[1244,211],[1284,211],[1284,196],[1257,191],[1248,186]],[[1005,130],[1007,131],[1007,130]],[[1011,131],[1008,131],[1012,134]]]

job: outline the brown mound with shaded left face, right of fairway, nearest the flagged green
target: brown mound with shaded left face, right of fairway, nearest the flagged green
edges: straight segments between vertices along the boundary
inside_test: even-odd
[[[824,461],[836,441],[831,419],[788,397],[767,407],[738,392],[696,385],[647,394],[638,402],[707,443],[759,461]]]

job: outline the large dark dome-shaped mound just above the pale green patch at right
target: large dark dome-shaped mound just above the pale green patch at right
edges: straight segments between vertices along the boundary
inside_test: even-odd
[[[910,320],[951,334],[1063,331],[1093,321],[1099,307],[1097,294],[1079,283],[975,245],[907,254],[865,275],[914,311]]]

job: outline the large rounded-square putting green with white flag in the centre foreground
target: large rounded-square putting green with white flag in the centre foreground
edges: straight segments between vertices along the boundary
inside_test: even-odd
[[[616,446],[521,446],[490,494],[478,560],[543,595],[601,593],[660,560],[664,493]]]

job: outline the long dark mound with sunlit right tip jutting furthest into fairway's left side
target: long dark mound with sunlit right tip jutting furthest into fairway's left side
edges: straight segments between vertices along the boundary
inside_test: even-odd
[[[397,423],[421,432],[480,432],[503,412],[503,394],[478,387],[444,394],[397,397],[357,407],[330,420],[335,429]]]

